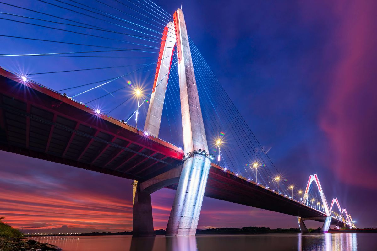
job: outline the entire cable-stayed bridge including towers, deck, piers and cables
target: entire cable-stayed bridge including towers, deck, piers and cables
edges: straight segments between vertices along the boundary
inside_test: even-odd
[[[14,12],[1,18],[70,36],[1,35],[59,44],[0,55],[1,64],[52,66],[0,69],[2,150],[135,180],[134,235],[153,235],[150,195],[164,187],[176,190],[170,236],[195,235],[203,196],[297,216],[303,233],[310,219],[323,232],[355,227],[337,199],[329,206],[317,174],[304,191],[287,184],[188,36],[181,9],[172,16],[151,1],[38,2],[74,17],[2,3]],[[125,59],[135,64],[114,65]],[[80,68],[60,68],[67,62]],[[63,89],[50,89],[60,81]]]

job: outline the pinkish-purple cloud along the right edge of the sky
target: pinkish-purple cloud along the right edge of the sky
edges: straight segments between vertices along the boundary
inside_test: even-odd
[[[375,1],[343,2],[334,6],[340,20],[328,53],[338,51],[328,78],[329,95],[320,115],[335,159],[334,173],[347,184],[377,188],[377,21]]]

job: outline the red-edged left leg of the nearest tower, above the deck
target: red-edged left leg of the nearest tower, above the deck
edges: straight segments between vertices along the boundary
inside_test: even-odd
[[[175,31],[173,28],[174,24],[169,22],[162,34],[156,76],[153,82],[152,95],[150,96],[147,118],[144,125],[144,132],[148,132],[154,137],[158,137],[158,132],[160,130],[166,85],[169,78],[169,70],[172,63],[173,49],[176,41]]]

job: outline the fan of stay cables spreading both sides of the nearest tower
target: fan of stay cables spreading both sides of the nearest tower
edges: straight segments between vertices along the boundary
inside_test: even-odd
[[[159,58],[161,37],[172,15],[150,0],[16,0],[0,5],[6,52],[0,55],[2,66],[143,130],[156,64],[164,59]],[[189,42],[213,162],[282,196],[302,199],[191,38]],[[159,137],[182,147],[176,54],[174,49]]]

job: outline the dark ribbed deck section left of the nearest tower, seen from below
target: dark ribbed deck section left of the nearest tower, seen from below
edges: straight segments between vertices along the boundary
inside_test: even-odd
[[[181,163],[178,147],[0,68],[0,149],[129,179]]]

